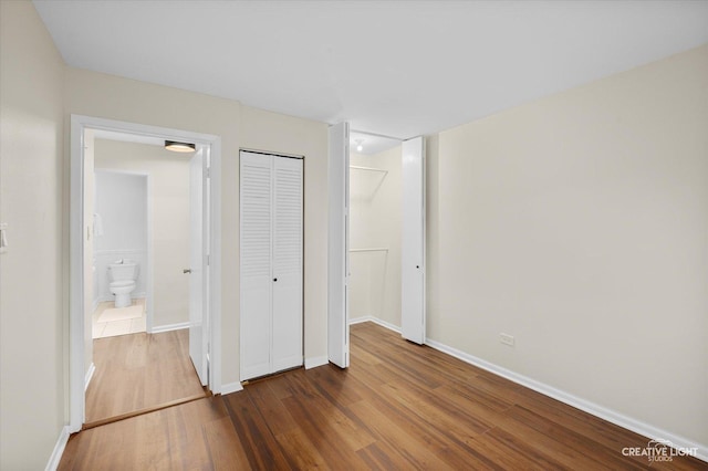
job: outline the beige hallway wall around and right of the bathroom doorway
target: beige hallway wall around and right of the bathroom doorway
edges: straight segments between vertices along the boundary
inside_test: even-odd
[[[153,326],[189,322],[189,159],[147,144],[96,139],[96,169],[149,176]],[[147,273],[147,266],[142,266]],[[103,275],[103,274],[101,274]]]

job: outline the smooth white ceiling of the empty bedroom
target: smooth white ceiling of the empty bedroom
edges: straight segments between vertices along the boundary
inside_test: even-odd
[[[397,138],[708,43],[708,1],[34,4],[72,66]]]

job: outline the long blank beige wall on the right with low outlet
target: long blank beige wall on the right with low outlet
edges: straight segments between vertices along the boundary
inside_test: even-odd
[[[431,139],[428,337],[708,443],[707,104],[702,46]]]

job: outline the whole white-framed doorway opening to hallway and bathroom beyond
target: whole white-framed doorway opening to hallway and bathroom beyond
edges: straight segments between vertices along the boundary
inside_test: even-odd
[[[71,155],[71,431],[219,391],[220,139],[73,115]]]

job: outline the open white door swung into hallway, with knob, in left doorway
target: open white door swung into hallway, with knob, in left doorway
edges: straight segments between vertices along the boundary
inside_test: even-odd
[[[207,251],[205,242],[209,240],[208,224],[205,224],[205,211],[208,193],[205,191],[205,163],[208,161],[208,147],[199,146],[189,160],[189,357],[195,365],[202,386],[209,383],[208,346],[208,306],[205,293]]]

